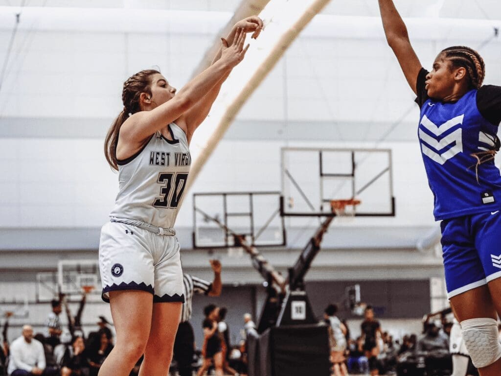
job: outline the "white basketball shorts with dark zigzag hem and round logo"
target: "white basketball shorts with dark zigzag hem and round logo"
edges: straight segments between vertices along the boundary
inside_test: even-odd
[[[99,242],[103,300],[109,303],[110,291],[142,290],[154,303],[184,302],[179,250],[175,236],[108,222]]]

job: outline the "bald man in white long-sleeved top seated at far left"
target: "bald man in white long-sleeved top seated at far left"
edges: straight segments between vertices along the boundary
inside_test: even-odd
[[[23,335],[12,342],[8,372],[11,376],[41,375],[44,369],[44,346],[33,339],[33,328],[25,325]]]

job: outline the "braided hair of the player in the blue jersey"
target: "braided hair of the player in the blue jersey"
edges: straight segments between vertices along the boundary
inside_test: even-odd
[[[466,69],[470,87],[479,89],[482,86],[485,78],[485,64],[478,52],[469,47],[453,46],[442,50],[441,53],[451,61],[454,68]]]

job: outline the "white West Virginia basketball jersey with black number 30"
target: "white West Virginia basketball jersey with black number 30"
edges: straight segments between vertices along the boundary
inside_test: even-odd
[[[135,155],[118,162],[119,192],[110,217],[173,228],[191,155],[184,131],[169,124],[173,141],[157,131]]]

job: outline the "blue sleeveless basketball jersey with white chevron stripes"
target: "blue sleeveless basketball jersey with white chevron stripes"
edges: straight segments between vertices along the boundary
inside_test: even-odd
[[[418,78],[418,95],[422,87]],[[501,208],[501,175],[494,160],[477,164],[471,155],[495,150],[497,144],[498,122],[480,112],[477,93],[470,90],[454,103],[427,96],[418,102],[418,137],[437,221]]]

